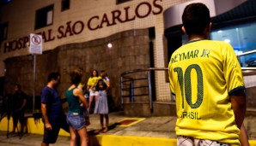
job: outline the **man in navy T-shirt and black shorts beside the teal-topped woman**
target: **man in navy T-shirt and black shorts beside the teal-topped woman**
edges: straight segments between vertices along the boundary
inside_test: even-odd
[[[66,115],[63,112],[61,98],[56,90],[60,83],[59,73],[50,73],[48,84],[41,91],[41,110],[44,122],[44,138],[41,146],[56,143],[60,128],[69,131]]]

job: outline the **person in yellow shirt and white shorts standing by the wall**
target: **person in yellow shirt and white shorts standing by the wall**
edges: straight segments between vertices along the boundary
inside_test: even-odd
[[[87,86],[88,86],[87,89],[89,91],[88,111],[91,107],[93,100],[96,103],[97,98],[99,96],[99,91],[97,91],[96,88],[94,87],[99,79],[101,79],[101,77],[99,76],[98,71],[94,69],[87,83]]]

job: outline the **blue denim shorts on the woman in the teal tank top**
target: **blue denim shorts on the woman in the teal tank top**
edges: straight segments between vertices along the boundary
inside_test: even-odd
[[[76,131],[82,129],[85,126],[85,119],[83,114],[69,112],[67,115],[67,123]]]

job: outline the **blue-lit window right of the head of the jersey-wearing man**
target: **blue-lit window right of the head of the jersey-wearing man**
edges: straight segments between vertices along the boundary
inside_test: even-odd
[[[233,46],[236,55],[256,50],[256,22],[212,30],[210,39],[221,40]],[[256,53],[238,57],[241,67],[256,67]]]

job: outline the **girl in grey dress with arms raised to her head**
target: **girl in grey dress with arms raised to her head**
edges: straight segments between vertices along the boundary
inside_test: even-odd
[[[100,114],[101,129],[97,132],[107,132],[108,131],[108,105],[107,105],[107,90],[109,88],[109,83],[106,79],[100,79],[96,82],[96,90],[99,91],[99,97],[96,101],[94,114]],[[106,120],[106,127],[104,128],[103,120]]]

